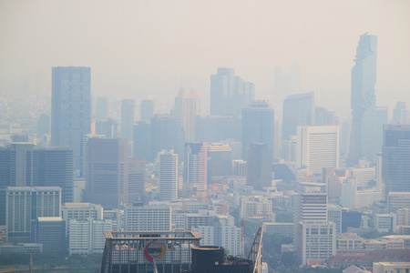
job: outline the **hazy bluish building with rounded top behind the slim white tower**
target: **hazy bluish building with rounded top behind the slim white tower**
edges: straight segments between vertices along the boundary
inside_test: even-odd
[[[173,149],[179,157],[183,157],[185,133],[179,122],[169,115],[156,115],[151,118],[149,132],[149,158],[154,161],[158,153],[164,149]]]

